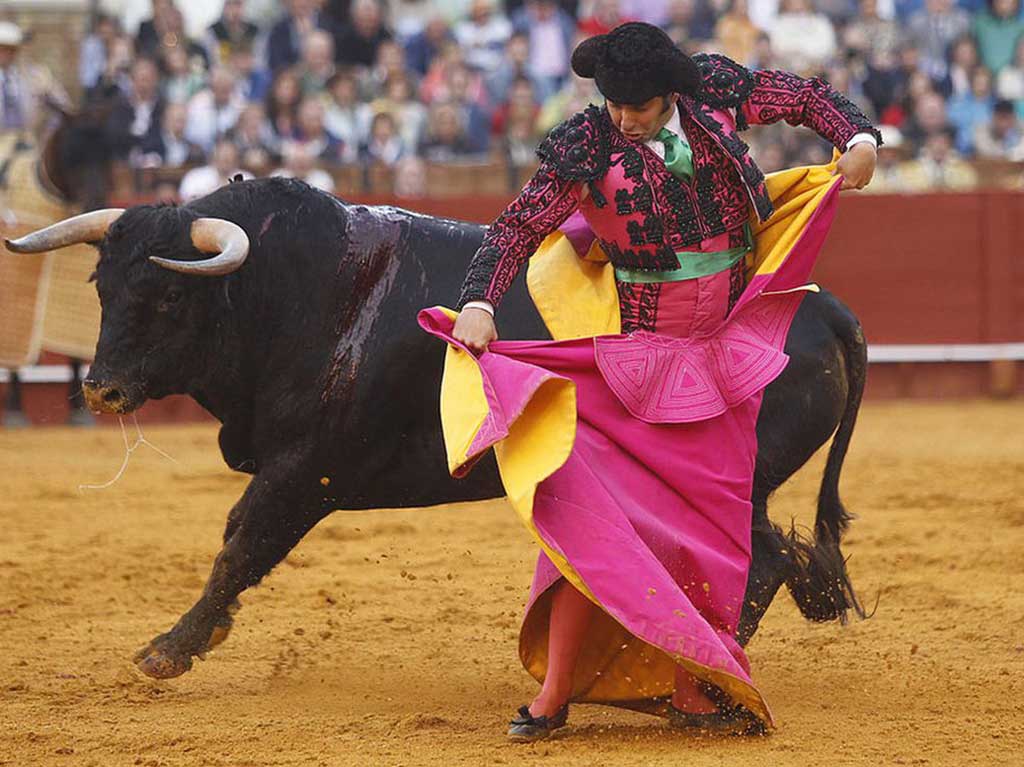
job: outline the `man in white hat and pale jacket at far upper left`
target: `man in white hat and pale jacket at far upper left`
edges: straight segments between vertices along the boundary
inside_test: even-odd
[[[24,40],[20,27],[0,22],[0,133],[39,130],[48,101],[66,110],[71,105],[49,70],[18,60]]]

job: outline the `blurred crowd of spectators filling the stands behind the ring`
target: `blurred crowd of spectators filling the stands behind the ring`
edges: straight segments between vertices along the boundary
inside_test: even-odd
[[[182,199],[239,172],[332,189],[333,168],[383,165],[415,196],[424,163],[528,166],[552,126],[601,101],[571,74],[575,43],[630,19],[828,80],[882,126],[876,190],[970,187],[972,161],[1024,161],[1021,0],[211,1],[200,38],[153,0],[136,30],[94,16],[80,49],[85,105],[110,105],[99,140],[136,168],[187,168]],[[28,119],[3,43],[0,130]],[[831,152],[786,126],[748,138],[766,171]]]

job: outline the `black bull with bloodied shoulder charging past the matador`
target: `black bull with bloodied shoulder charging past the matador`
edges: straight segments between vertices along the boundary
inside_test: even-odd
[[[197,276],[147,261],[206,257],[189,239],[199,217],[242,226],[250,253],[240,269]],[[420,308],[455,301],[482,232],[344,205],[283,179],[232,183],[182,207],[130,208],[110,226],[97,243],[102,326],[90,402],[127,413],[147,398],[188,394],[221,422],[227,464],[253,475],[228,513],[202,596],[137,654],[144,673],[183,674],[223,641],[238,596],[335,509],[503,495],[493,459],[466,479],[449,476],[438,416],[443,348],[416,324]],[[521,280],[499,329],[506,339],[548,337]],[[785,350],[790,366],[758,421],[742,642],[783,583],[808,619],[862,614],[839,549],[849,516],[838,492],[864,383],[860,327],[834,296],[810,294]],[[786,535],[768,519],[768,496],[834,432],[814,540]]]

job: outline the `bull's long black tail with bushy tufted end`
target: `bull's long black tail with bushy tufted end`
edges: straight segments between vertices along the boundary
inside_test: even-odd
[[[839,477],[843,470],[857,422],[857,411],[864,393],[867,377],[867,345],[860,324],[848,315],[846,323],[837,323],[837,335],[843,341],[848,391],[846,408],[839,428],[833,436],[825,463],[824,476],[818,493],[818,511],[814,522],[814,541],[809,542],[797,530],[791,529],[788,539],[794,566],[785,585],[801,613],[809,621],[835,621],[846,623],[853,610],[858,617],[867,617],[861,606],[850,576],[846,559],[840,550],[840,541],[853,515],[843,506],[839,497]]]

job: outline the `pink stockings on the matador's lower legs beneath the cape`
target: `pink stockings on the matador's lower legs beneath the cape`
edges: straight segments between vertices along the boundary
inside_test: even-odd
[[[535,717],[554,716],[572,694],[572,672],[587,637],[593,611],[597,609],[586,596],[565,580],[552,587],[551,619],[548,630],[548,671],[541,691],[529,705]],[[696,679],[676,668],[676,691],[672,704],[690,713],[717,711],[717,707],[697,687]]]

